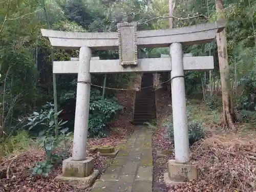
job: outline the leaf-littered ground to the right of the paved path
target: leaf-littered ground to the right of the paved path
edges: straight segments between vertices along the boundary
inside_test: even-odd
[[[170,99],[165,93],[159,93],[158,98],[159,127],[154,133],[153,143],[158,150],[172,150],[173,141],[166,139],[166,129],[162,123],[171,118]],[[175,154],[169,155],[162,162],[155,154],[154,191],[256,192],[255,127],[252,131],[245,131],[243,125],[238,124],[239,132],[230,133],[212,120],[214,113],[207,112],[203,104],[197,103],[196,106],[197,115],[207,129],[207,137],[190,147],[190,163],[198,167],[199,177],[179,185],[166,186],[163,182],[163,173],[167,172],[166,162],[174,159]],[[207,113],[209,118],[205,117]]]

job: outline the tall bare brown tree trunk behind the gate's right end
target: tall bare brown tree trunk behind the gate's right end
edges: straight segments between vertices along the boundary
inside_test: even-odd
[[[219,18],[223,12],[223,0],[215,0],[215,4]],[[223,117],[221,125],[223,127],[228,127],[232,129],[234,132],[236,132],[236,126],[234,125],[234,122],[236,121],[236,114],[234,114],[230,91],[226,30],[224,29],[220,33],[217,33],[216,38],[218,46],[223,103]]]

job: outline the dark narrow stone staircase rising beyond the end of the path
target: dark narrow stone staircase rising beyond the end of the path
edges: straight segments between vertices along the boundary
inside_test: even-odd
[[[153,74],[144,73],[141,80],[141,88],[153,86]],[[155,92],[153,87],[141,89],[136,93],[134,108],[134,125],[143,125],[156,119]]]

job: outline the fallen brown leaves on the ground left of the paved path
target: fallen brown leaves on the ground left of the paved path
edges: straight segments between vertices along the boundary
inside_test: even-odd
[[[130,123],[132,117],[133,93],[121,92],[118,93],[118,101],[125,106],[123,114],[119,116],[119,119],[112,123],[112,126],[118,127],[118,132],[112,129],[109,136],[105,138],[91,138],[88,140],[89,147],[92,145],[113,145],[117,146],[120,141],[124,142],[127,135],[133,132],[133,125]],[[69,148],[71,154],[72,147]],[[95,168],[101,172],[108,166],[106,157],[102,157],[99,153],[90,153],[95,160]],[[15,157],[15,156],[14,156]],[[48,178],[42,178],[40,176],[32,177],[30,175],[30,169],[38,162],[44,161],[46,158],[43,150],[31,150],[24,154],[20,154],[13,159],[1,159],[0,160],[0,192],[86,192],[87,189],[78,189],[68,185],[66,183],[60,183],[54,180],[54,178],[61,174],[61,165],[56,165]],[[10,179],[6,178],[6,172],[9,172]]]

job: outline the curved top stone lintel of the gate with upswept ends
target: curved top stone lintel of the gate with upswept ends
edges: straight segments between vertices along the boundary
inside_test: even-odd
[[[174,29],[137,31],[137,46],[168,47],[173,42],[183,45],[202,44],[210,42],[226,26],[226,20],[215,23],[187,26]],[[41,29],[42,36],[49,37],[51,45],[61,49],[79,49],[91,47],[95,49],[117,49],[117,32],[65,32]]]

